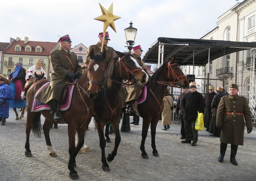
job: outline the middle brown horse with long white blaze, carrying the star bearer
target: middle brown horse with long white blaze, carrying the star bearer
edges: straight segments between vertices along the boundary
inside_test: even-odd
[[[122,80],[127,79],[131,84],[134,84],[134,81],[136,80],[139,80],[144,84],[148,80],[148,75],[140,65],[138,65],[136,60],[131,58],[131,54],[118,51],[115,52],[119,57],[114,58],[108,65],[103,89],[98,93],[98,96],[94,100],[95,120],[100,139],[99,144],[101,148],[102,169],[106,172],[110,171],[110,168],[105,156],[106,141],[104,137],[104,125],[111,122],[115,133],[114,149],[111,154],[108,154],[107,156],[108,162],[111,162],[116,156],[121,141],[119,133],[119,115],[121,113],[122,105],[119,98],[119,92],[121,84],[123,84]]]

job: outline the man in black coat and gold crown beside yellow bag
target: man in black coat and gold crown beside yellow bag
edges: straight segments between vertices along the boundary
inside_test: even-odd
[[[190,92],[185,94],[182,101],[181,107],[184,111],[184,128],[186,139],[181,141],[182,143],[191,143],[191,127],[193,132],[193,140],[191,145],[195,146],[198,140],[198,132],[195,130],[195,121],[197,118],[197,111],[203,112],[205,107],[204,97],[201,93],[196,91],[196,82],[189,83]]]

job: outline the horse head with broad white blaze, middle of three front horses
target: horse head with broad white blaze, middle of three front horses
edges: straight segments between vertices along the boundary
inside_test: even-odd
[[[116,57],[118,60],[116,60],[116,66],[119,67],[119,76],[128,81],[133,80],[134,82],[137,81],[139,84],[146,84],[149,76],[137,63],[135,58],[127,52],[121,53],[116,50],[115,52],[118,54],[118,57]]]

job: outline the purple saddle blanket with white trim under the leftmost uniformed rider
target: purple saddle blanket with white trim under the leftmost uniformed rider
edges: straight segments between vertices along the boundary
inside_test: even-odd
[[[44,84],[35,94],[35,96],[42,91],[43,88],[50,86],[50,82],[47,82],[46,84]],[[63,99],[63,101],[60,103],[60,111],[66,111],[69,109],[70,104],[71,104],[71,99],[72,99],[72,94],[74,91],[74,87],[75,85],[69,85],[66,89],[67,89],[67,93],[65,95],[65,98]],[[42,111],[42,110],[50,110],[50,106],[47,104],[44,104],[40,101],[38,101],[37,99],[33,99],[32,102],[32,106],[31,106],[31,112],[38,112],[38,111]]]

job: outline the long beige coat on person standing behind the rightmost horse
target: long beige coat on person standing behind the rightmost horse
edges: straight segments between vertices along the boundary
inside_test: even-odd
[[[172,107],[174,108],[174,102],[170,95],[164,96],[163,103],[164,108],[162,112],[162,125],[171,125],[172,124],[172,111],[171,105],[168,103],[168,101],[165,99],[165,97],[168,99]]]

